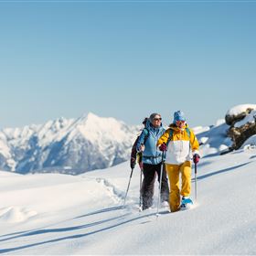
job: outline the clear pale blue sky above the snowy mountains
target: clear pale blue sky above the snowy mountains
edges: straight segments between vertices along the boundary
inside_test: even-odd
[[[256,1],[1,1],[0,128],[93,112],[190,126],[256,103]]]

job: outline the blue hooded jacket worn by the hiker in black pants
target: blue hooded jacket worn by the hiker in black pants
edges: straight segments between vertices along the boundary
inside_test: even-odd
[[[143,163],[149,165],[157,165],[162,161],[162,152],[158,150],[156,143],[158,139],[165,133],[165,128],[161,126],[154,128],[148,120],[145,129],[140,134],[136,144],[137,152],[140,151],[140,146],[144,144]],[[145,143],[144,143],[145,140]]]

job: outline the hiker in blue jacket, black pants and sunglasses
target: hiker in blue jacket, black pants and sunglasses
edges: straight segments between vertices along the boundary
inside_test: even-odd
[[[136,144],[137,152],[142,152],[143,154],[144,181],[141,191],[143,197],[143,210],[150,208],[153,205],[156,174],[158,176],[158,182],[160,182],[162,152],[158,149],[156,143],[163,133],[165,133],[165,128],[162,126],[161,115],[159,113],[152,113]],[[169,187],[164,165],[161,184],[161,202],[164,205],[168,204],[168,198]]]

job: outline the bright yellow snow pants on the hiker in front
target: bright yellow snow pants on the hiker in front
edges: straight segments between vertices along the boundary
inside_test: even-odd
[[[191,190],[191,163],[186,161],[181,165],[165,164],[165,170],[169,178],[171,211],[180,208],[180,196],[187,197]],[[179,175],[181,174],[181,191],[179,190]]]

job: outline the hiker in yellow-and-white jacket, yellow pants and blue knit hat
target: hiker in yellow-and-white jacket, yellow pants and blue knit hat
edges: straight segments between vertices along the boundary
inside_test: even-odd
[[[184,112],[174,113],[174,121],[157,141],[161,151],[166,152],[165,170],[169,178],[169,204],[172,212],[179,210],[183,205],[180,197],[190,200],[191,192],[191,158],[194,163],[199,161],[199,144],[195,133],[188,128]],[[181,175],[181,189],[179,176]],[[186,207],[184,205],[184,207]]]

